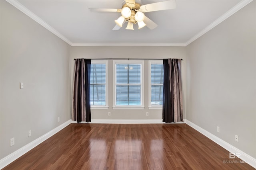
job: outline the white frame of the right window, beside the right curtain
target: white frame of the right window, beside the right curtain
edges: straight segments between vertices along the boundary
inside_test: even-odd
[[[163,109],[163,105],[151,105],[151,64],[163,64],[163,60],[148,61],[148,109]]]

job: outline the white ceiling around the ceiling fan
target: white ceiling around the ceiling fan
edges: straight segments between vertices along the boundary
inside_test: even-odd
[[[112,31],[117,12],[88,8],[122,8],[123,0],[7,0],[72,46],[162,45],[186,46],[218,25],[248,0],[176,0],[176,9],[147,12],[158,27]],[[141,0],[142,4],[164,0]],[[252,0],[251,0],[252,1]]]

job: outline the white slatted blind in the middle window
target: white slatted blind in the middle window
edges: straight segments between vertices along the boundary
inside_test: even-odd
[[[142,106],[142,64],[115,64],[116,106]]]

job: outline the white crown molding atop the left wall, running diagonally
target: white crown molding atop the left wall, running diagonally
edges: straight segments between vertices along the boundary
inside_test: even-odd
[[[56,29],[54,29],[53,27],[51,27],[48,23],[46,23],[44,20],[42,20],[41,18],[39,18],[36,14],[34,14],[33,12],[31,12],[30,10],[28,10],[28,8],[26,8],[25,6],[23,6],[22,4],[20,4],[20,2],[18,2],[17,0],[6,0],[7,2],[9,2],[10,4],[12,4],[12,6],[16,7],[18,10],[20,10],[21,12],[23,12],[24,14],[26,14],[27,16],[29,16],[30,18],[32,18],[34,21],[36,21],[37,23],[39,23],[40,25],[42,25],[43,27],[45,27],[46,29],[48,29],[50,32],[52,32],[54,35],[56,35],[57,37],[59,37],[60,39],[62,39],[63,41],[65,41],[66,43],[68,43],[69,45],[72,44],[71,41],[69,41],[69,39],[67,39],[66,37],[64,37],[61,33],[59,33],[58,31],[56,31]]]

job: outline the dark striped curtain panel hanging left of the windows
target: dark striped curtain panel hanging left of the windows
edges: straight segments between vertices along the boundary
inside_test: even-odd
[[[91,121],[90,108],[91,59],[76,59],[74,68],[72,120]]]

